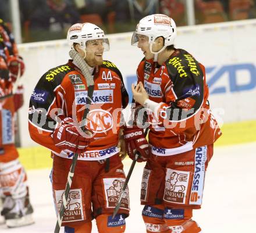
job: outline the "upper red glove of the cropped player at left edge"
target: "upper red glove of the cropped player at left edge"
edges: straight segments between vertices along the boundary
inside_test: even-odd
[[[12,82],[15,82],[17,80],[19,69],[20,77],[23,75],[25,70],[25,64],[21,56],[9,56],[7,60],[7,65],[9,69],[9,77],[11,78]]]

